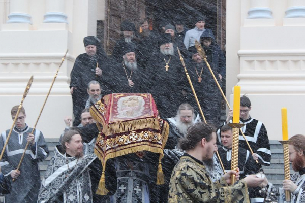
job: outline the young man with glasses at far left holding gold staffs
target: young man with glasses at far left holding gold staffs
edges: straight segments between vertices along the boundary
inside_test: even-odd
[[[14,106],[11,110],[14,120],[19,106]],[[11,137],[6,146],[3,159],[0,162],[1,171],[4,176],[12,181],[12,191],[6,195],[6,202],[37,202],[40,187],[39,162],[43,161],[49,154],[48,146],[43,134],[39,130],[28,127],[25,123],[25,110],[20,109],[18,118],[13,128]],[[0,149],[4,147],[9,129],[2,132],[0,139]],[[19,170],[16,170],[25,145],[29,141],[29,147],[25,151],[24,159]]]

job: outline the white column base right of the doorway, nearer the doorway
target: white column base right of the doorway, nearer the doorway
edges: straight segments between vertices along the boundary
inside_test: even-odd
[[[248,18],[273,18],[269,0],[251,0]]]

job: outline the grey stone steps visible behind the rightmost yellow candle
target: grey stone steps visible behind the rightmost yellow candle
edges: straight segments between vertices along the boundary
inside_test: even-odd
[[[269,182],[275,185],[277,188],[282,187],[284,180],[284,158],[283,158],[283,146],[279,141],[270,140],[271,148],[271,164],[270,166],[263,166],[264,173],[267,176]],[[293,174],[290,164],[290,174]]]

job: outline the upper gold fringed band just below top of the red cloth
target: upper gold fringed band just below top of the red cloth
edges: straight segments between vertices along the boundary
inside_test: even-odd
[[[105,126],[104,126],[105,127]],[[128,131],[135,131],[139,129],[151,128],[160,130],[160,122],[157,118],[141,118],[130,121],[119,121],[115,123],[109,123],[108,130],[103,131],[105,136],[109,136],[116,133],[123,133]]]

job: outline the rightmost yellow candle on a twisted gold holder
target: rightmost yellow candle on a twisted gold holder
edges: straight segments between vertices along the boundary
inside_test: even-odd
[[[288,122],[287,122],[287,109],[282,108],[282,133],[283,141],[280,141],[283,145],[284,152],[284,176],[285,180],[290,180],[290,164],[289,164],[289,140],[288,140]],[[290,192],[285,190],[286,202],[290,202]]]

